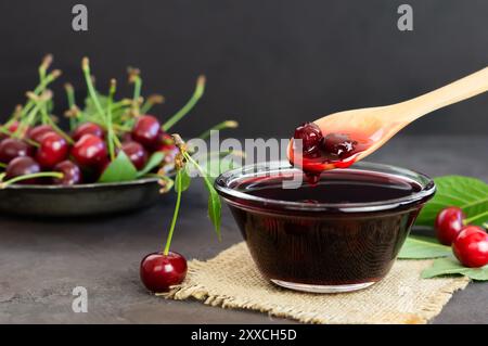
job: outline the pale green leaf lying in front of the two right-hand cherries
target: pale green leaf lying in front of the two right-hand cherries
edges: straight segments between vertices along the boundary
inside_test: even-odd
[[[434,260],[431,268],[427,268],[422,272],[422,278],[431,279],[435,277],[454,274],[465,275],[477,281],[487,281],[488,265],[481,268],[467,268],[463,267],[455,258],[452,257],[437,258]]]

